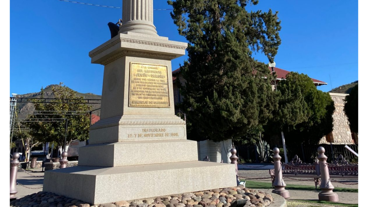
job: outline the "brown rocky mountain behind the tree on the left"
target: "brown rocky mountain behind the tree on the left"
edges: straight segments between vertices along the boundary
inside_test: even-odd
[[[58,85],[49,85],[47,86],[45,89],[43,89],[43,97],[45,99],[52,99],[54,98],[54,94],[52,92],[52,87],[53,86],[58,86]],[[83,96],[84,99],[101,99],[100,95],[96,95],[93,93],[76,93],[77,96]],[[26,93],[26,94],[22,94],[22,95],[18,95],[17,97],[22,97],[22,98],[40,98],[41,96],[41,92],[36,92],[36,93]],[[91,101],[92,102],[92,101]],[[98,103],[98,104],[87,104],[89,106],[92,106],[92,110],[101,108],[101,101],[93,101],[92,103]],[[17,103],[17,115],[18,118],[26,118],[27,114],[31,114],[32,111],[35,110],[35,107],[33,105],[33,103]],[[96,110],[93,111],[93,114],[100,116],[100,110]]]

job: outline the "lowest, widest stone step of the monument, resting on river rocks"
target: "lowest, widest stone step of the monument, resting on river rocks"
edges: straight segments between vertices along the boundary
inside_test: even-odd
[[[236,186],[235,165],[204,161],[77,166],[45,172],[43,191],[92,204]]]

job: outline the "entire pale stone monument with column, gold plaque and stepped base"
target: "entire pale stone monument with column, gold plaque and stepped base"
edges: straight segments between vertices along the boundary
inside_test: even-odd
[[[101,119],[78,166],[46,171],[43,191],[102,204],[236,186],[236,166],[198,161],[174,113],[171,60],[186,48],[158,36],[153,0],[123,0],[119,34],[89,53],[105,66]]]

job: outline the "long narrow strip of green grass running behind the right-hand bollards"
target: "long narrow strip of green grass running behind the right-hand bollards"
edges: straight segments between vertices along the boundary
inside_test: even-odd
[[[261,189],[270,189],[272,188],[271,182],[258,182],[258,181],[247,181],[245,183],[245,187],[247,188],[261,188]],[[317,187],[312,185],[293,185],[293,184],[286,184],[287,190],[310,190],[310,191],[320,191]],[[349,193],[358,193],[358,189],[353,188],[335,188],[334,192],[349,192]]]

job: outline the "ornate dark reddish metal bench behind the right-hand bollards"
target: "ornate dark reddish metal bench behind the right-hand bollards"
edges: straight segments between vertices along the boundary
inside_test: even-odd
[[[358,178],[358,164],[349,164],[347,160],[340,154],[334,163],[328,164],[330,178]],[[270,169],[271,182],[275,181],[275,169]],[[318,160],[315,159],[315,163],[307,164],[303,163],[296,155],[290,163],[282,164],[282,174],[287,175],[285,177],[293,178],[312,178],[312,179],[294,179],[298,181],[314,181],[315,187],[321,185],[321,172],[319,170]]]

